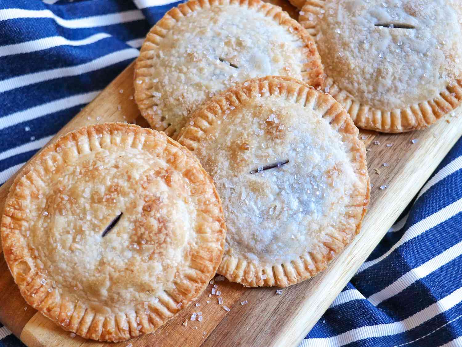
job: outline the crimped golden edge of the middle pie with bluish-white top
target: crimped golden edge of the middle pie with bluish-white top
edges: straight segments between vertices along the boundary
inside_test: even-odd
[[[312,250],[290,263],[276,264],[265,268],[259,264],[239,260],[226,253],[223,255],[218,273],[230,281],[239,282],[249,287],[274,285],[286,287],[309,279],[324,270],[335,255],[339,254],[352,241],[353,236],[359,233],[370,198],[366,151],[364,143],[358,138],[358,128],[353,124],[344,108],[332,96],[315,90],[303,81],[286,76],[267,76],[247,80],[214,96],[193,113],[191,119],[194,121],[194,125],[188,125],[181,130],[178,142],[194,152],[198,143],[206,136],[205,130],[208,127],[213,127],[217,117],[224,114],[230,105],[237,108],[241,100],[259,97],[259,95],[280,96],[295,103],[301,103],[305,107],[307,105],[319,107],[324,104],[322,107],[323,112],[325,112],[323,118],[329,119],[329,124],[342,136],[343,142],[352,143],[350,162],[358,175],[361,186],[365,187],[363,192],[355,192],[354,196],[352,194],[352,205],[349,206],[349,211],[352,212],[350,216],[355,218],[356,229],[349,232],[348,230],[339,231],[339,234],[343,234],[342,237],[338,239],[331,237],[329,241],[323,242],[324,248],[319,247]],[[357,154],[359,154],[358,158]],[[261,279],[262,274],[266,274],[266,279]]]

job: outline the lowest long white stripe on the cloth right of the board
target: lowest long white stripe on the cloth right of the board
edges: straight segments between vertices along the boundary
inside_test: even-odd
[[[355,328],[340,335],[328,338],[305,339],[302,344],[304,347],[336,347],[343,346],[348,343],[367,339],[371,337],[390,336],[404,333],[407,330],[418,327],[420,324],[432,319],[440,313],[450,310],[455,305],[462,301],[462,287],[456,289],[448,296],[440,299],[434,304],[420,310],[416,314],[394,323],[385,323],[377,325],[369,325],[365,327]]]

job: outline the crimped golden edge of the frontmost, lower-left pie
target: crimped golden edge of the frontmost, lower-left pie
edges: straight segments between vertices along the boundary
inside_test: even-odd
[[[117,142],[117,136],[121,132],[132,132],[134,134],[132,142]],[[21,295],[28,304],[40,311],[44,316],[50,318],[61,328],[85,338],[98,341],[124,341],[136,336],[152,333],[191,304],[193,299],[201,295],[210,279],[215,275],[222,258],[225,245],[226,226],[223,219],[221,200],[213,185],[213,180],[200,166],[198,168],[203,177],[203,182],[209,185],[210,188],[213,188],[211,192],[216,198],[215,204],[212,203],[203,206],[204,208],[201,210],[205,215],[211,218],[212,222],[203,221],[201,225],[204,225],[204,223],[217,222],[219,227],[218,229],[209,228],[210,241],[201,243],[213,243],[213,247],[201,249],[200,246],[196,246],[195,248],[191,248],[191,263],[194,262],[194,264],[187,265],[192,271],[185,274],[183,277],[188,278],[189,282],[191,282],[186,285],[191,285],[195,290],[191,291],[189,295],[184,295],[181,288],[178,287],[174,280],[173,284],[175,285],[175,290],[169,293],[163,291],[162,294],[158,296],[158,302],[149,305],[149,315],[146,314],[146,309],[142,304],[134,306],[132,310],[128,310],[127,312],[111,312],[110,314],[103,315],[85,307],[85,303],[81,301],[75,302],[66,297],[60,297],[59,294],[56,294],[56,290],[49,292],[48,288],[50,287],[50,281],[47,281],[45,285],[40,282],[43,278],[46,279],[47,276],[37,271],[36,263],[33,260],[34,258],[31,252],[21,245],[21,239],[24,239],[24,237],[20,235],[21,219],[27,220],[28,205],[27,202],[21,204],[20,196],[27,194],[27,190],[33,187],[33,174],[35,178],[40,178],[37,173],[41,170],[43,170],[41,174],[46,174],[47,167],[45,161],[50,158],[50,155],[61,157],[62,152],[58,153],[56,148],[71,142],[75,145],[75,149],[80,155],[79,142],[81,143],[81,141],[85,141],[85,139],[88,140],[91,136],[95,136],[96,134],[104,133],[109,133],[111,139],[109,146],[119,146],[121,149],[126,148],[126,146],[135,145],[141,146],[140,148],[142,148],[146,144],[144,139],[147,136],[153,136],[154,141],[157,143],[155,146],[157,146],[160,141],[165,145],[171,145],[178,149],[176,154],[169,158],[172,165],[180,164],[179,159],[184,157],[198,163],[193,154],[164,133],[148,128],[141,128],[138,125],[106,123],[90,125],[74,130],[59,137],[54,143],[43,149],[43,151],[33,158],[15,178],[6,199],[5,210],[1,218],[1,241],[8,268],[12,273],[15,283],[19,287]],[[92,150],[89,143],[88,148]],[[155,147],[152,148],[155,149]],[[147,149],[149,149],[149,147]],[[57,169],[59,169],[59,167]],[[183,166],[183,175],[186,177],[187,173],[185,169],[187,169],[187,167]],[[20,186],[19,190],[17,189],[18,186]],[[28,263],[32,264],[35,268],[30,266],[31,269],[29,273],[21,279],[20,270],[17,271],[16,266],[28,257],[30,260]],[[180,308],[177,307],[178,303],[182,303]],[[137,322],[137,318],[140,318],[140,322]],[[141,328],[137,329],[137,326],[141,326]]]

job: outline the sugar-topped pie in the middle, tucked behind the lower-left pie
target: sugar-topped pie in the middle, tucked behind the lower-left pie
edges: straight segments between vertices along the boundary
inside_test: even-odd
[[[285,287],[323,270],[359,232],[369,200],[358,133],[334,98],[289,77],[249,80],[201,105],[178,141],[222,199],[218,273]]]

